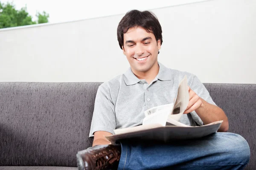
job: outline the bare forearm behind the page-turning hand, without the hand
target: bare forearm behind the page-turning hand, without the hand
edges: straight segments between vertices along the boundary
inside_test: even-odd
[[[195,110],[195,112],[198,114],[198,116],[201,118],[201,120],[204,122],[204,124],[209,124],[211,122],[215,122],[218,120],[223,120],[223,123],[221,124],[221,127],[218,131],[220,132],[226,132],[228,130],[229,124],[228,119],[224,111],[219,108],[218,106],[209,104],[204,99],[202,100],[202,105],[198,109]]]

